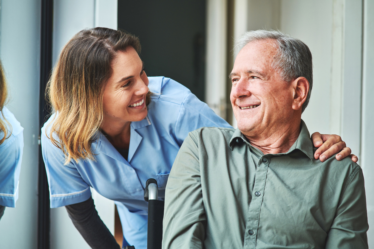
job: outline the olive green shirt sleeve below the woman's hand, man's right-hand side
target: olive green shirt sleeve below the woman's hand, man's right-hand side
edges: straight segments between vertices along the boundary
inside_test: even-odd
[[[344,191],[344,187],[346,187]],[[353,170],[336,210],[328,232],[326,249],[368,248],[368,216],[364,176],[360,166]]]

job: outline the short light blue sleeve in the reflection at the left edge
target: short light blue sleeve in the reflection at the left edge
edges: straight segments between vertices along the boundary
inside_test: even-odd
[[[18,199],[23,152],[23,131],[10,135],[0,147],[0,205],[14,208]]]

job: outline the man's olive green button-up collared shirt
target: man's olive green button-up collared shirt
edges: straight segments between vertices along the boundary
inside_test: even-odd
[[[166,185],[162,248],[368,248],[360,166],[315,150],[303,121],[279,154],[239,130],[190,132]]]

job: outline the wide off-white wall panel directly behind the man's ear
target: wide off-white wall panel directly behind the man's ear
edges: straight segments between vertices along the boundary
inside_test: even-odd
[[[304,41],[313,56],[313,89],[301,118],[310,133],[330,134],[332,0],[281,1],[280,12],[279,28]]]

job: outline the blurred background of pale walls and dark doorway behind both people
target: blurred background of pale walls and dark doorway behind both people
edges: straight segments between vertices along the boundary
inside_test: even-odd
[[[50,69],[61,47],[91,27],[137,35],[148,76],[186,85],[234,126],[228,78],[234,39],[247,30],[280,29],[304,41],[312,51],[314,80],[302,118],[311,133],[338,134],[359,156],[373,247],[373,13],[373,0],[0,0],[7,107],[24,127],[25,144],[19,199],[1,218],[0,248],[89,248],[65,208],[49,208],[39,134],[48,114],[44,88]],[[93,198],[122,243],[114,203],[95,192]]]

